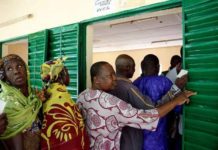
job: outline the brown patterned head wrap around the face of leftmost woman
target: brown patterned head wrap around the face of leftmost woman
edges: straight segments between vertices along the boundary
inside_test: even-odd
[[[20,56],[16,54],[9,54],[3,57],[2,59],[0,59],[0,80],[3,80],[3,81],[6,80],[4,67],[7,63],[9,63],[13,59],[20,61],[26,67],[26,63],[23,61],[23,59]]]

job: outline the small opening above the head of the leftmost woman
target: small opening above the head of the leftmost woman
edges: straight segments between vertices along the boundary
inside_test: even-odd
[[[12,42],[6,42],[2,45],[2,57],[16,54],[28,64],[28,40],[22,39]]]

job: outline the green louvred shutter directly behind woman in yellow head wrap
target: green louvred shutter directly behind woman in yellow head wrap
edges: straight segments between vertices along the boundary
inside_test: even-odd
[[[78,51],[79,24],[57,27],[49,30],[48,60],[65,55],[65,61],[70,74],[70,85],[67,87],[73,100],[78,96]]]

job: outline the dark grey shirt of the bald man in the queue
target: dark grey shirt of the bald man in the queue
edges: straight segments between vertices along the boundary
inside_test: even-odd
[[[117,77],[117,85],[110,94],[117,96],[137,109],[154,108],[150,98],[145,97],[128,79]],[[143,139],[143,130],[126,126],[122,129],[120,149],[142,150]]]

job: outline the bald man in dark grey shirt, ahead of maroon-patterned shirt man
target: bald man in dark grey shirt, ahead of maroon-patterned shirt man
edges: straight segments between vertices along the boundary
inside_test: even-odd
[[[116,58],[115,66],[117,84],[109,93],[130,103],[137,109],[155,108],[150,97],[143,95],[130,80],[135,72],[135,62],[133,58],[129,55],[121,54]],[[173,98],[172,95],[174,95],[173,91],[169,91],[158,101],[158,105],[170,101]],[[122,129],[120,149],[141,150],[144,142],[143,139],[143,130],[126,126]]]

